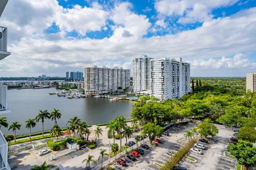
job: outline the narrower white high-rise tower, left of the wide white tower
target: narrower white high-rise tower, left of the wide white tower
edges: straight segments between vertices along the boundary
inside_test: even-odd
[[[146,55],[133,59],[133,91],[150,90],[150,58]]]

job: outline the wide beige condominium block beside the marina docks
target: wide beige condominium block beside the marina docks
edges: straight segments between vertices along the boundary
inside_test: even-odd
[[[130,71],[122,67],[113,67],[113,69],[95,65],[86,67],[84,69],[85,94],[107,94],[118,89],[130,88]]]

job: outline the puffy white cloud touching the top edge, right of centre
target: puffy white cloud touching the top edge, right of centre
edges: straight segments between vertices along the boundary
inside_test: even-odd
[[[178,21],[180,23],[194,23],[211,19],[211,11],[214,8],[233,5],[237,2],[238,0],[162,0],[156,1],[155,8],[163,16],[181,16]]]

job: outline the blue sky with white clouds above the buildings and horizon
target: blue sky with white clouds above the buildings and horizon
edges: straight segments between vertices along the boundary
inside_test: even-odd
[[[182,57],[191,77],[256,72],[256,0],[15,0],[0,19],[8,50],[0,77],[65,77],[91,65]]]

